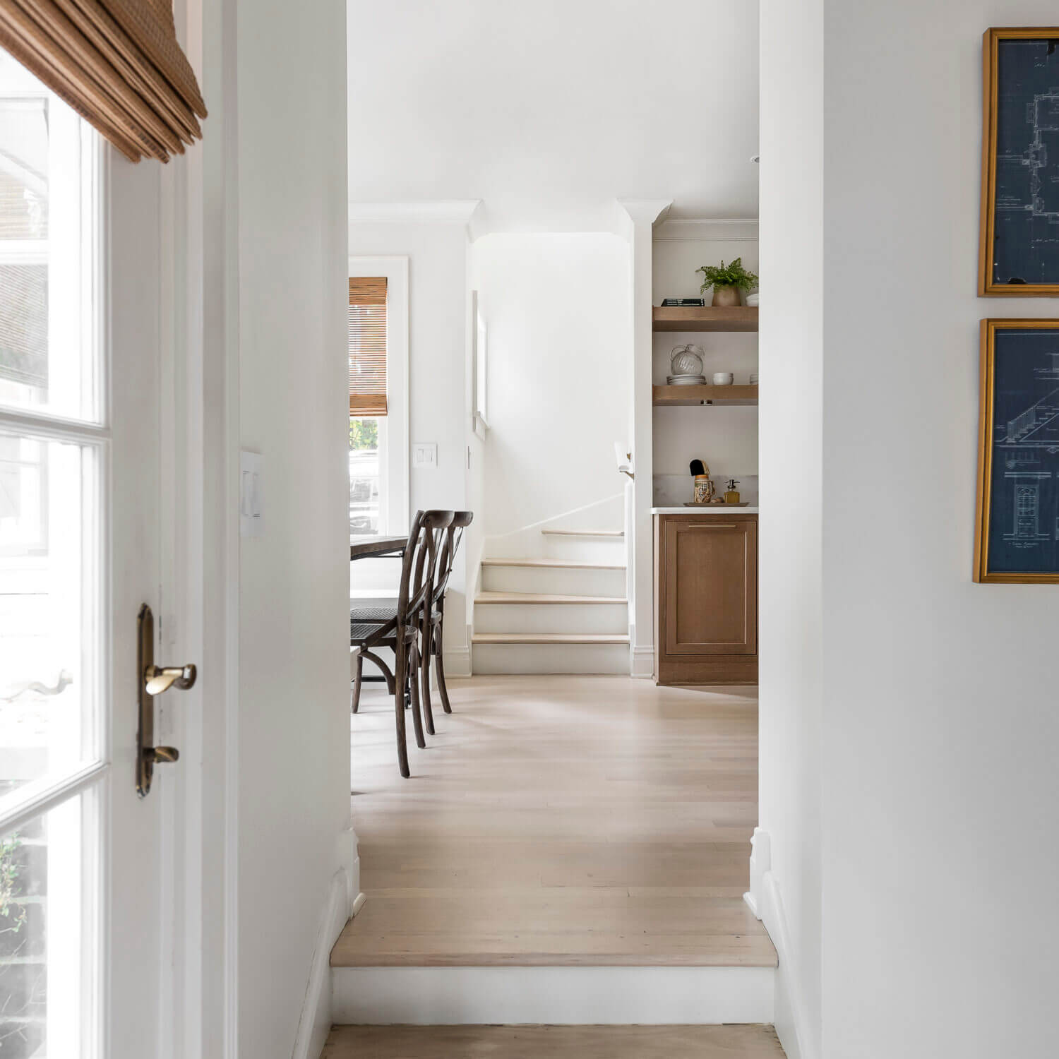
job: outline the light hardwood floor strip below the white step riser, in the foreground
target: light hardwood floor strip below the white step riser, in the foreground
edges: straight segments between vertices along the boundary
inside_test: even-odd
[[[322,1059],[783,1059],[771,1026],[336,1026]]]

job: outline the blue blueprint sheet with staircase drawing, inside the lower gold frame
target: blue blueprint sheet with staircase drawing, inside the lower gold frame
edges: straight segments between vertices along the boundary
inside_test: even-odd
[[[1059,328],[998,328],[993,359],[992,573],[1059,571]]]

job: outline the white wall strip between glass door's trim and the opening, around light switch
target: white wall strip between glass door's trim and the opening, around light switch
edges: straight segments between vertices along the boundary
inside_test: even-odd
[[[326,0],[238,4],[239,417],[265,461],[239,572],[239,1054],[259,1059],[292,1053],[349,825],[344,29]]]

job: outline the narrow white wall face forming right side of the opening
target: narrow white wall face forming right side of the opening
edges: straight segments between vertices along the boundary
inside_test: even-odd
[[[822,481],[820,3],[761,0],[760,25],[758,816],[772,839],[773,881],[783,901],[782,911],[769,910],[766,923],[777,945],[785,934],[790,943],[780,953],[776,1028],[791,1059],[816,1059],[822,509],[825,499],[833,505],[842,496],[824,498]],[[892,436],[887,428],[887,442]],[[850,932],[857,933],[852,927]],[[857,959],[846,973],[859,981],[861,969]],[[900,1011],[893,1015],[895,1021],[903,1018]]]

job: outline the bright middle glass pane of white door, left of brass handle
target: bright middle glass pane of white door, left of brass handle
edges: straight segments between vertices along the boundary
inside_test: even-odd
[[[0,808],[93,756],[97,455],[0,431]]]

